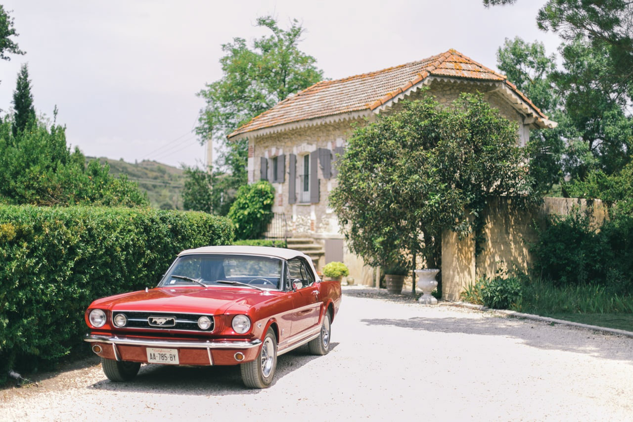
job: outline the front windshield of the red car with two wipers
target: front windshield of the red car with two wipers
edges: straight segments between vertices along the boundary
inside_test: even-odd
[[[282,260],[252,255],[184,255],[178,257],[158,286],[245,283],[279,290]]]

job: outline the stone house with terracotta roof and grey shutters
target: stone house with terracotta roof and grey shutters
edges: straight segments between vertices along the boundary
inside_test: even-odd
[[[483,93],[504,117],[518,123],[521,144],[530,129],[556,125],[504,75],[451,49],[377,72],[318,82],[229,134],[229,140],[248,138],[248,181],[272,182],[273,212],[285,215],[292,238],[302,239],[289,246],[315,244],[317,268],[339,260],[356,283],[372,284],[373,269],[346,248],[328,206],[336,186],[335,161],[353,125],[399,110],[401,99],[419,98],[425,86],[446,104],[463,92]]]

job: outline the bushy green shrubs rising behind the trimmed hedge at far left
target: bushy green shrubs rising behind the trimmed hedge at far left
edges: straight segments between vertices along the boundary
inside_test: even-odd
[[[79,150],[70,153],[65,128],[33,122],[17,137],[13,122],[0,123],[0,201],[33,205],[148,205],[127,177],[115,179],[108,166],[85,165]]]

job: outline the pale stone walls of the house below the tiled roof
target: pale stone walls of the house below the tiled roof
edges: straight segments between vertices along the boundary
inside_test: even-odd
[[[418,99],[422,92],[418,90],[411,93],[406,99]],[[428,92],[444,105],[458,98],[460,93],[482,92],[486,100],[499,109],[501,115],[517,122],[520,143],[525,144],[529,139],[529,126],[523,124],[522,115],[505,98],[492,91],[490,84],[436,80],[429,84]],[[397,112],[400,109],[401,103],[396,103],[384,113]],[[372,115],[368,120],[373,120],[373,117]],[[329,169],[325,169],[322,162],[316,166],[318,201],[314,201],[314,196],[302,198],[305,186],[302,179],[304,166],[310,165],[311,154],[316,154],[320,149],[335,151],[338,148],[341,151],[353,130],[353,125],[364,124],[364,122],[365,120],[361,118],[348,118],[338,122],[320,122],[253,137],[249,139],[248,177],[249,182],[258,181],[261,178],[272,182],[276,191],[273,212],[286,215],[292,236],[313,238],[323,245],[326,257],[342,257],[343,262],[349,267],[350,276],[356,280],[356,283],[373,285],[373,269],[364,265],[360,257],[349,252],[341,241],[344,237],[341,234],[337,216],[328,205],[329,193],[336,186],[336,178],[334,174],[327,174]],[[294,155],[293,160],[296,159],[296,162],[293,162],[294,169],[291,169],[291,155]],[[280,169],[280,165],[283,165],[283,169]],[[291,177],[294,182],[289,180]],[[293,184],[294,192],[291,191]],[[313,194],[313,186],[310,186],[309,190]],[[318,262],[318,269],[326,264],[325,258],[321,261]]]

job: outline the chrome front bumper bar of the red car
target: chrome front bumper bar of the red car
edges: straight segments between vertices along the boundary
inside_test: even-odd
[[[110,335],[91,335],[87,334],[84,338],[85,342],[89,343],[108,343],[115,347],[116,345],[130,345],[130,346],[147,346],[147,347],[190,347],[190,348],[253,348],[258,347],[261,344],[261,340],[256,338],[249,342],[244,341],[232,341],[232,340],[220,340],[220,341],[196,341],[196,340],[158,340],[158,339],[141,339],[141,338],[129,338]]]

